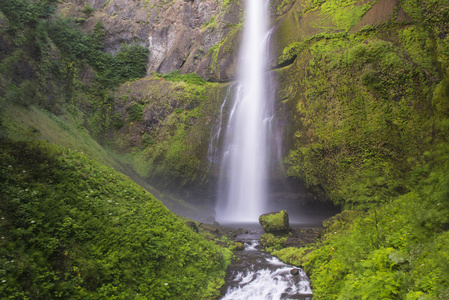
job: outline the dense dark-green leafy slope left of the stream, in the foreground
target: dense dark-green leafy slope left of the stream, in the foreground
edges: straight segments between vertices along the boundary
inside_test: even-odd
[[[230,253],[83,154],[0,143],[0,294],[8,299],[202,299]]]

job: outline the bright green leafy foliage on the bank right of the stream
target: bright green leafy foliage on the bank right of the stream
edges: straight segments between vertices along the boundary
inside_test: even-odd
[[[319,243],[274,254],[310,275],[314,299],[449,297],[449,148],[428,153],[410,193],[325,223]]]

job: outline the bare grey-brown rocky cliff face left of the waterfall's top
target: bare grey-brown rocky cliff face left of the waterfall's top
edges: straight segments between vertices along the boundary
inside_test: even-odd
[[[197,73],[208,81],[234,77],[243,17],[239,1],[70,0],[58,7],[85,30],[105,28],[105,50],[139,43],[150,50],[148,73]]]

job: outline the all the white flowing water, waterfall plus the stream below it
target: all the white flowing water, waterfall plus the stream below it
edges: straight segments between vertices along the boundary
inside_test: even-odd
[[[268,3],[246,0],[238,81],[230,85],[211,134],[208,159],[211,164],[221,164],[216,207],[220,223],[257,222],[268,207],[269,161],[276,152],[272,144],[281,136],[273,131],[273,89],[266,72]],[[224,143],[220,147],[222,126]],[[258,250],[261,234],[259,228],[239,237],[245,249],[238,251],[228,269],[222,299],[311,299],[303,270]]]

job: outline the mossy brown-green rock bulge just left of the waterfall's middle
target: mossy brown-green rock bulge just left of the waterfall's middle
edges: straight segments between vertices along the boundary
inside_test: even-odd
[[[210,120],[225,90],[221,85],[197,81],[198,78],[175,72],[165,80],[156,75],[119,89],[118,111],[130,105],[130,99],[145,103],[142,120],[112,131],[114,147],[122,153],[133,153],[129,158],[141,176],[175,186],[207,180]],[[128,95],[128,102],[120,100],[123,95]],[[141,128],[151,130],[142,132]]]

